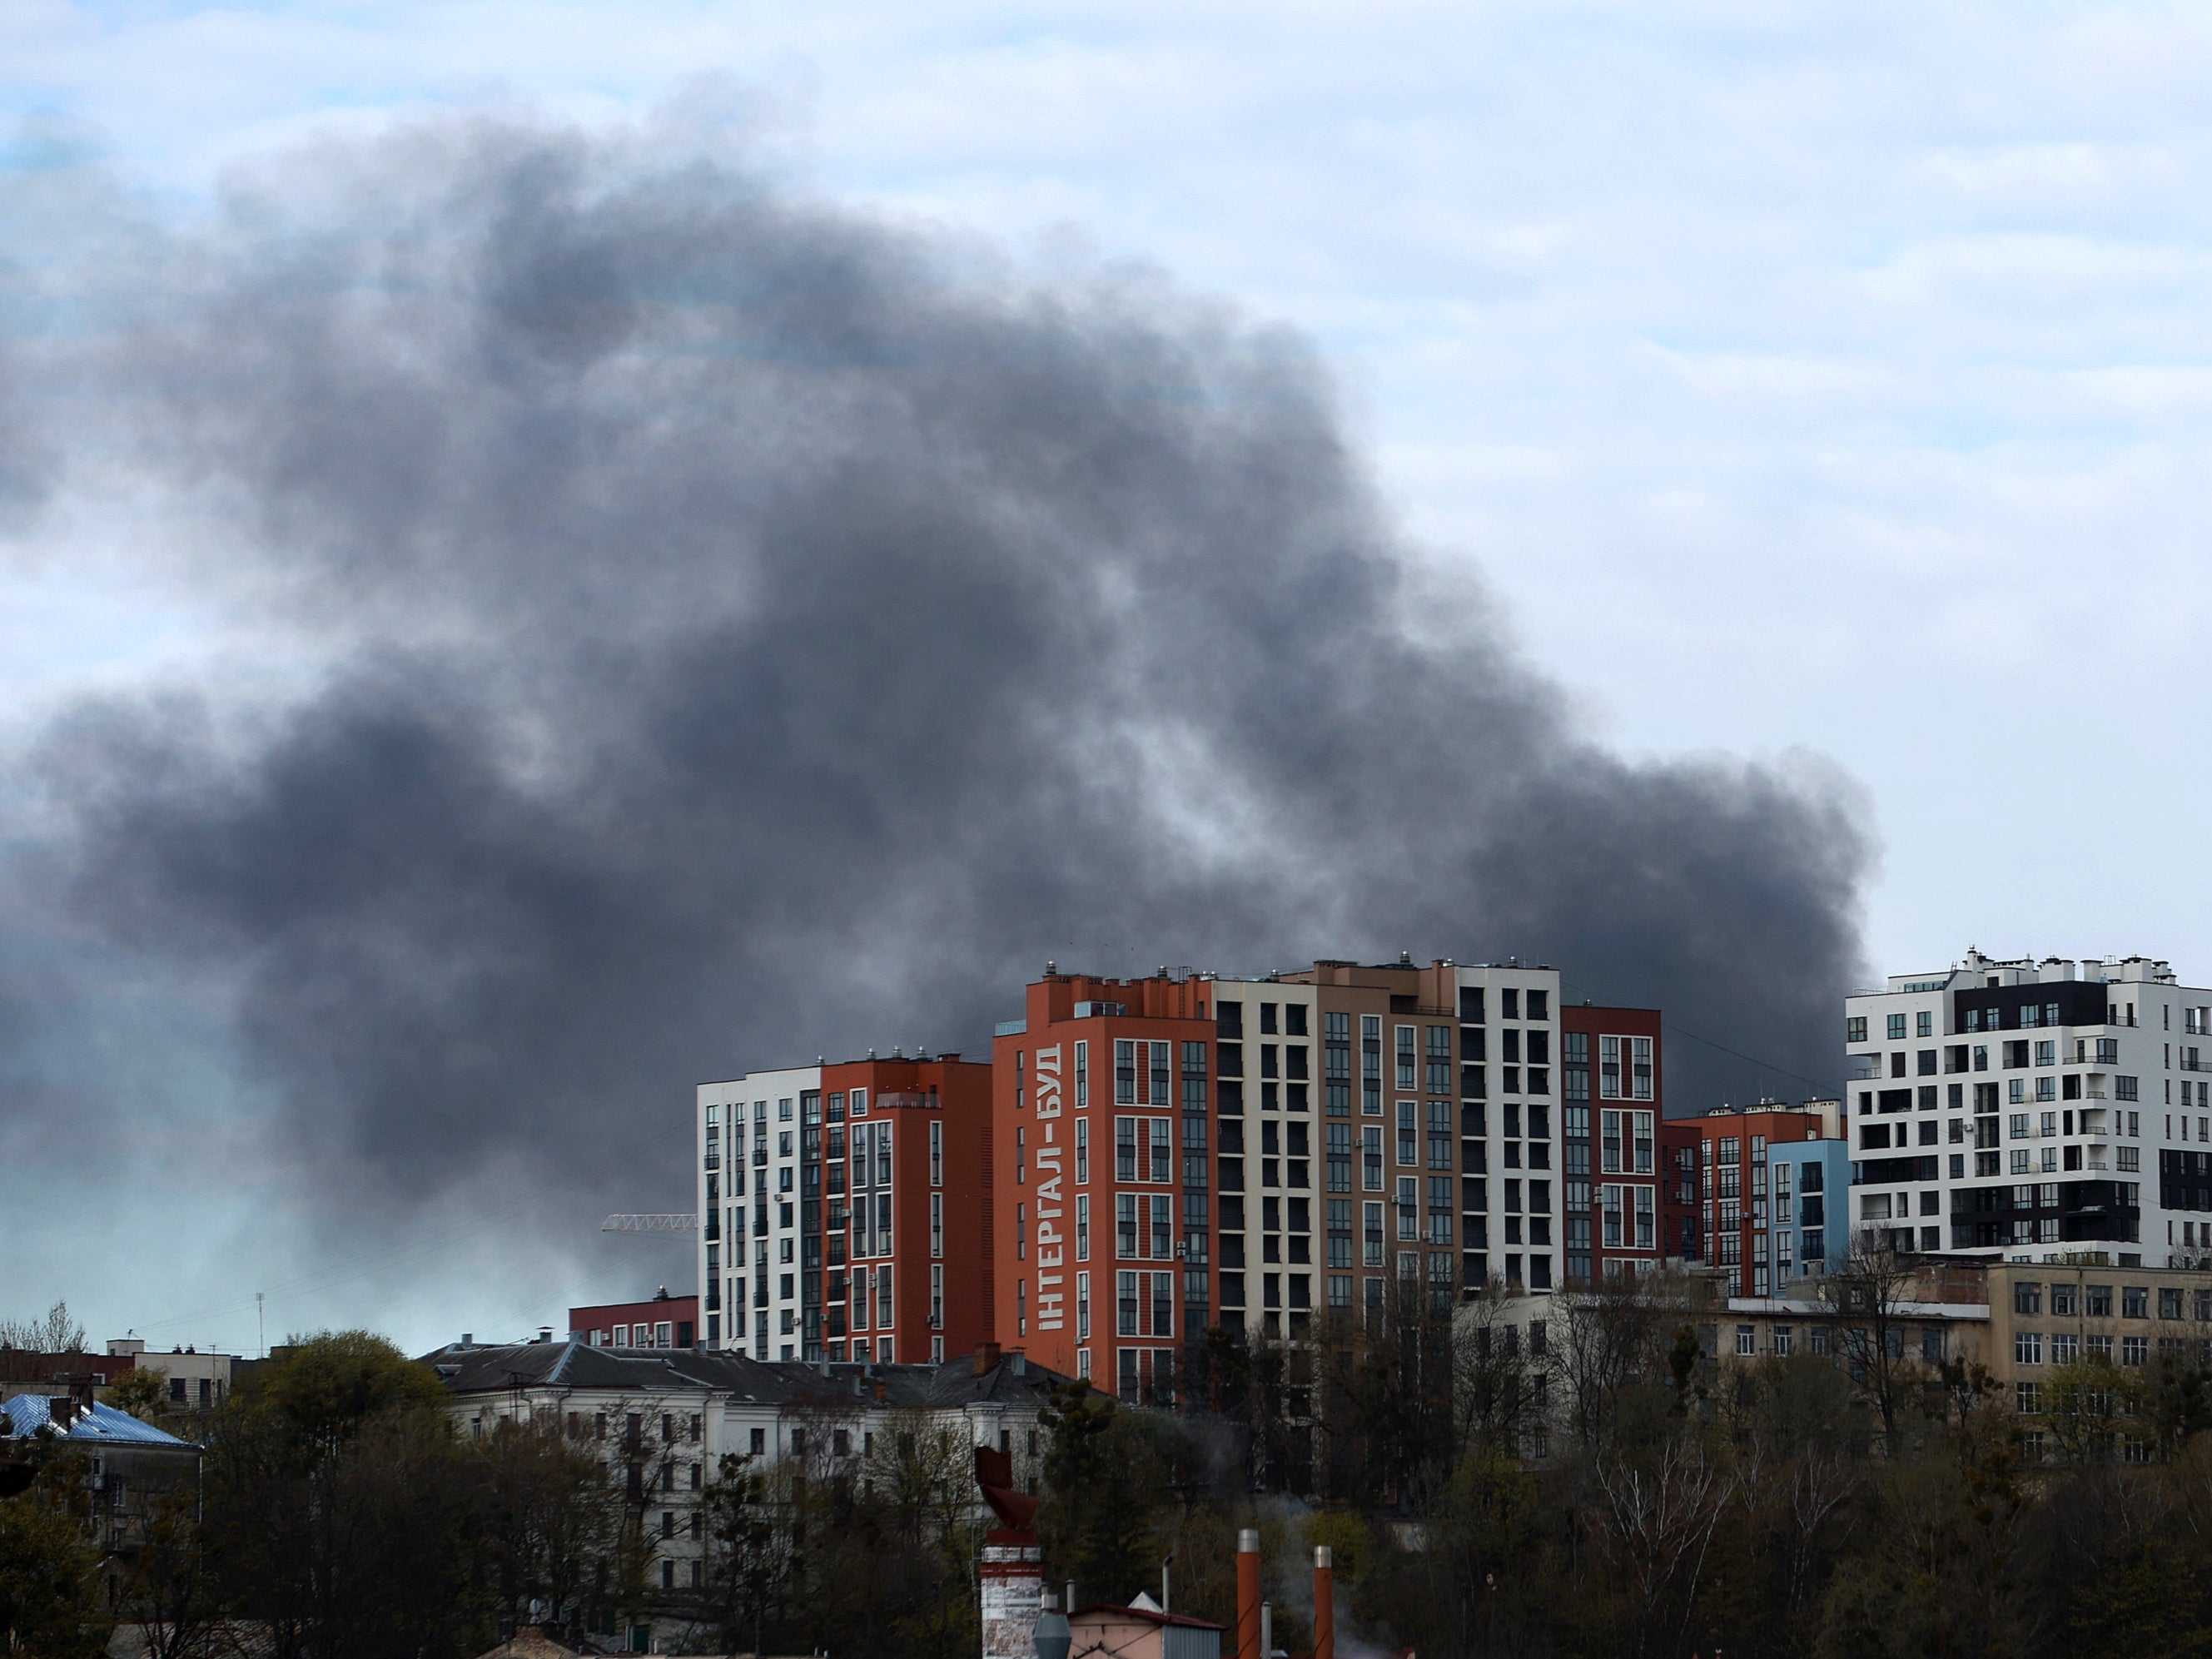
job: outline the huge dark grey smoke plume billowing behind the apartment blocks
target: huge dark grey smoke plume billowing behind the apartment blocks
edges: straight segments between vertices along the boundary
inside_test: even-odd
[[[241,980],[294,1157],[681,1203],[633,1139],[695,1082],[982,1048],[1046,956],[1511,951],[1832,1073],[1849,790],[1577,734],[1283,332],[520,126],[316,153],[155,263],[86,374],[327,670],[75,710],[49,852]],[[1672,1046],[1677,1108],[1759,1082]]]

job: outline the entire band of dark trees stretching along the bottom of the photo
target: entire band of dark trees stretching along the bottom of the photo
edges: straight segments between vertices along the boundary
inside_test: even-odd
[[[1055,1391],[1018,1478],[1079,1601],[1157,1597],[1166,1564],[1177,1610],[1230,1624],[1234,1535],[1259,1526],[1290,1650],[1312,1544],[1336,1551],[1340,1635],[1427,1659],[2212,1644],[2197,1349],[2068,1367],[2022,1413],[1980,1369],[1920,1363],[1885,1285],[1860,1290],[1838,1285],[1827,1354],[1725,1367],[1655,1281],[1542,1327],[1526,1301],[1418,1298],[1298,1347],[1214,1334],[1188,1409]],[[564,1422],[458,1433],[447,1407],[376,1338],[294,1347],[206,1418],[204,1511],[155,1506],[113,1606],[82,1482],[49,1458],[0,1498],[0,1652],[93,1655],[115,1619],[157,1659],[246,1626],[279,1659],[445,1659],[533,1619],[617,1641],[672,1621],[697,1652],[978,1650],[958,1418],[841,1438],[825,1407],[805,1460],[726,1458],[686,1495],[677,1551],[650,1467],[626,1480]],[[701,1579],[664,1584],[672,1555]]]

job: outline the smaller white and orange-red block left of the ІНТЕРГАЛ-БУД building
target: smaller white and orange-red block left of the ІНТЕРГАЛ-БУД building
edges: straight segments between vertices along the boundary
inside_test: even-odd
[[[697,1110],[706,1347],[889,1365],[991,1338],[989,1066],[792,1066]]]

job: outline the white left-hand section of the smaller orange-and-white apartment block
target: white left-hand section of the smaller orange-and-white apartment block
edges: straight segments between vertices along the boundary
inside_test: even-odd
[[[801,1360],[823,1316],[823,1068],[699,1084],[697,1124],[699,1340]]]

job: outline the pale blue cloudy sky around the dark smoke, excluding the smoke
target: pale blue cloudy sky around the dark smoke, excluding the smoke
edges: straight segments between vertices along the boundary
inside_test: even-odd
[[[1312,345],[1411,557],[1484,584],[1575,730],[1863,803],[1867,971],[1980,945],[2201,978],[2208,58],[2212,18],[2152,4],[0,0],[0,161],[18,210],[91,157],[117,215],[192,228],[270,157],[513,115],[737,144],[978,268],[1164,272]],[[0,743],[88,692],[319,684],[327,641],[148,562],[159,533],[126,484],[20,526]],[[243,1347],[254,1281],[288,1285],[272,1323],[429,1340],[675,1272],[487,1254],[482,1194],[290,1261],[221,1055],[148,1046],[199,1015],[122,958],[104,984],[117,1086],[173,1102],[133,1139],[237,1186],[73,1164],[60,1208],[113,1230],[82,1287],[75,1221],[24,1228],[18,1192],[0,1234],[95,1334]]]

